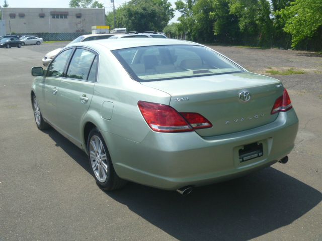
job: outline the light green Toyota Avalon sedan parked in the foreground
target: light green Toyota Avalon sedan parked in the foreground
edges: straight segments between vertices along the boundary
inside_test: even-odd
[[[282,83],[197,43],[75,43],[32,75],[37,127],[83,149],[104,190],[133,181],[188,194],[286,163],[294,147]]]

